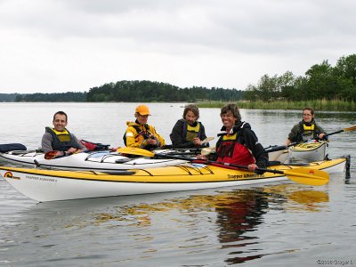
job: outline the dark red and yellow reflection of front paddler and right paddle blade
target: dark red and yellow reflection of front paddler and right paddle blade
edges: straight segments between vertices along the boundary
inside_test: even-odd
[[[328,194],[318,190],[290,191],[288,185],[266,187],[263,190],[239,190],[229,195],[223,205],[215,207],[216,223],[220,226],[219,241],[223,249],[231,251],[226,263],[245,263],[263,257],[263,250],[249,249],[259,242],[251,234],[263,222],[263,214],[270,209],[287,212],[319,212],[328,202]],[[233,249],[232,249],[233,248]],[[260,252],[260,253],[259,253]]]

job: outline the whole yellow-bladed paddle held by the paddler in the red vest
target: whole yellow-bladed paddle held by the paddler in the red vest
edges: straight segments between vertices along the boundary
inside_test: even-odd
[[[125,153],[125,154],[140,155],[140,156],[145,156],[145,157],[182,159],[182,160],[188,160],[188,161],[195,161],[198,163],[200,162],[200,163],[203,163],[206,165],[232,166],[232,167],[241,168],[241,169],[248,169],[247,166],[239,166],[239,165],[235,165],[235,164],[231,164],[231,163],[223,163],[223,162],[210,161],[210,160],[197,160],[195,158],[176,157],[176,156],[164,155],[164,154],[159,154],[159,153],[153,153],[148,150],[142,150],[142,149],[137,149],[137,148],[121,148],[121,149],[118,149],[117,152]],[[295,169],[286,170],[286,171],[280,171],[280,170],[275,170],[275,169],[272,170],[272,169],[256,168],[255,172],[284,174],[287,176],[288,179],[290,179],[294,182],[304,183],[304,184],[308,184],[308,185],[323,185],[323,184],[327,183],[329,180],[328,173],[320,171],[320,170],[306,168],[306,167],[295,168]]]

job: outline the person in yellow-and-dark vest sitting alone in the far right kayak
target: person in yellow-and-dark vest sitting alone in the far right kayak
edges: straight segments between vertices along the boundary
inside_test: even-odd
[[[303,109],[303,120],[293,126],[288,134],[286,145],[292,142],[307,142],[312,139],[328,139],[324,129],[315,122],[314,109],[306,107]]]

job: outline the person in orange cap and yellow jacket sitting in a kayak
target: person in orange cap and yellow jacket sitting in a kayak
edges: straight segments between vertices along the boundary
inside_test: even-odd
[[[150,109],[146,105],[140,105],[135,109],[134,122],[126,122],[127,129],[124,134],[126,147],[154,150],[165,145],[165,139],[160,136],[155,127],[149,125]]]

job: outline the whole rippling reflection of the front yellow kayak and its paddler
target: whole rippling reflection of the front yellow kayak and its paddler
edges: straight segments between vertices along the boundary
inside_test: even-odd
[[[13,244],[42,240],[54,253],[73,246],[70,240],[77,236],[81,242],[73,251],[64,249],[69,255],[92,247],[98,255],[122,261],[163,255],[203,261],[199,255],[208,254],[212,258],[204,261],[246,263],[269,254],[259,232],[267,213],[315,213],[327,205],[327,193],[291,184],[43,203],[21,212],[16,227],[6,227],[4,244],[13,251]],[[268,227],[269,223],[263,226]],[[102,245],[108,241],[108,247]],[[30,257],[33,247],[27,251],[22,246],[21,253]]]

